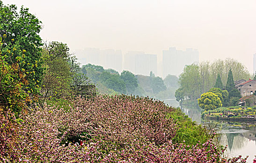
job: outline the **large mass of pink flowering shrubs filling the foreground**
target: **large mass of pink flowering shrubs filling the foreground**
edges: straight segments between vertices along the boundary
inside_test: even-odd
[[[0,115],[3,163],[245,163],[212,140],[172,143],[177,125],[163,102],[133,96],[77,99],[70,106]]]

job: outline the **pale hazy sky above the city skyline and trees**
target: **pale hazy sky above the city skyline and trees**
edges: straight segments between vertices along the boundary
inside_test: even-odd
[[[119,49],[158,54],[196,48],[200,61],[227,57],[252,72],[256,0],[3,0],[28,7],[44,40],[71,50]]]

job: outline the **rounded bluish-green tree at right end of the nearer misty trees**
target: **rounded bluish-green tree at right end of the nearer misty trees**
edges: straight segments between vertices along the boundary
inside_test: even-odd
[[[127,93],[132,94],[135,89],[138,87],[137,79],[135,78],[135,75],[132,74],[130,71],[123,71],[120,75],[121,79],[123,79]]]

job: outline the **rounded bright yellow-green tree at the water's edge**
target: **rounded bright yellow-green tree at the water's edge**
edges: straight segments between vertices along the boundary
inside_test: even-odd
[[[205,110],[213,110],[222,106],[218,95],[212,92],[203,93],[197,101],[199,107]]]

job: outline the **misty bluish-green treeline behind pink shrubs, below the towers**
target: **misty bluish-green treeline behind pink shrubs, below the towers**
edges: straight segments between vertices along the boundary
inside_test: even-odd
[[[114,69],[104,69],[102,66],[87,64],[82,66],[82,72],[95,83],[100,94],[139,95],[157,99],[175,98],[178,78],[168,75],[164,80],[156,77],[153,72],[149,76],[134,75],[124,70],[120,75]]]

